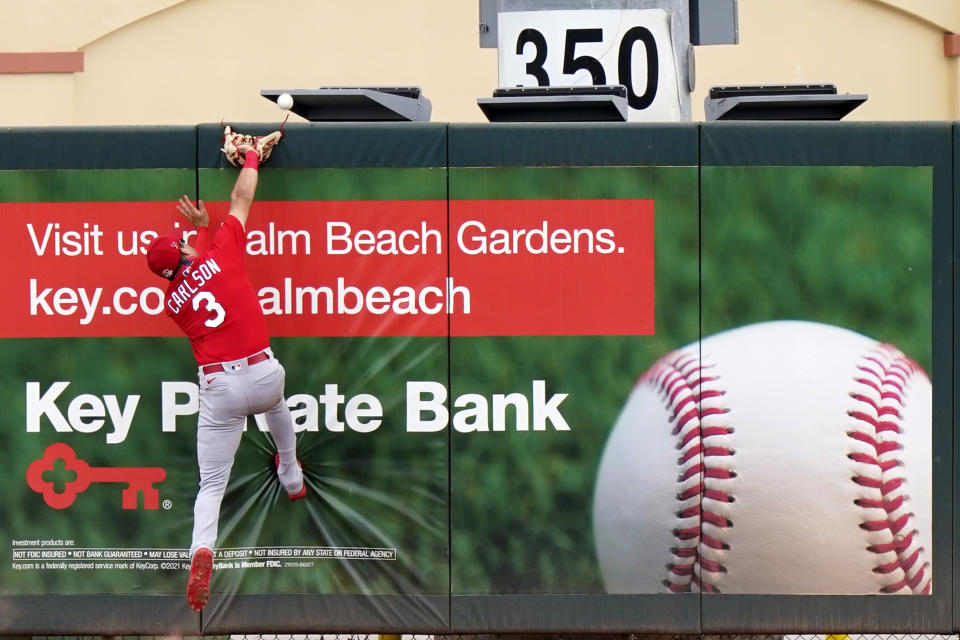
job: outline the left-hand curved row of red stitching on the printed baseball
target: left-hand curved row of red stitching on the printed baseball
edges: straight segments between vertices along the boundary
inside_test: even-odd
[[[711,511],[709,502],[705,505],[704,501],[729,504],[734,502],[734,497],[721,488],[708,488],[706,480],[722,481],[736,477],[736,472],[729,468],[730,459],[736,452],[729,446],[707,441],[708,438],[727,436],[733,433],[733,428],[703,425],[705,418],[729,412],[728,408],[717,406],[717,399],[722,398],[725,391],[716,384],[718,377],[710,375],[711,368],[712,365],[701,364],[697,355],[674,352],[661,358],[640,379],[640,382],[653,386],[666,403],[672,423],[671,433],[677,436],[680,451],[677,482],[694,482],[676,495],[677,501],[684,503],[676,514],[683,520],[683,526],[675,528],[673,536],[682,544],[670,550],[673,561],[666,565],[667,575],[663,581],[667,589],[675,593],[694,590],[719,593],[712,581],[714,576],[727,572],[721,562],[704,558],[700,553],[703,547],[730,548],[723,540],[706,534],[703,531],[705,524],[714,531],[733,526],[733,522]],[[708,404],[705,401],[709,401]],[[718,466],[721,463],[725,466]],[[690,501],[695,503],[691,505]]]

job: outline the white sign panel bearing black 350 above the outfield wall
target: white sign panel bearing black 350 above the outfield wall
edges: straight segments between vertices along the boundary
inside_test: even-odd
[[[622,84],[630,120],[682,119],[663,9],[501,11],[498,19],[501,87]]]

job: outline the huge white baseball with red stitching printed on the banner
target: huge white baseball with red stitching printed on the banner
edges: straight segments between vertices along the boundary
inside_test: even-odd
[[[667,354],[600,461],[607,592],[930,592],[931,403],[896,347],[830,325],[765,322]]]

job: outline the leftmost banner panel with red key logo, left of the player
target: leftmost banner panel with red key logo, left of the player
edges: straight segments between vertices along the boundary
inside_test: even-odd
[[[129,141],[118,135],[101,142],[122,156]],[[29,609],[17,605],[21,600],[8,597],[42,595],[63,612],[70,606],[58,596],[151,594],[161,598],[144,628],[183,628],[162,596],[179,595],[178,578],[185,575],[180,537],[189,526],[195,454],[190,440],[163,432],[163,405],[171,396],[162,381],[179,378],[149,359],[172,343],[113,338],[96,327],[108,304],[123,318],[140,305],[161,303],[158,294],[133,293],[148,282],[143,255],[135,244],[115,244],[119,238],[107,231],[116,232],[111,225],[123,214],[132,222],[122,228],[140,229],[159,211],[157,201],[192,188],[196,172],[0,173],[13,186],[0,203],[10,224],[2,244],[22,262],[7,278],[16,320],[3,330],[0,374],[10,408],[0,453],[9,492],[2,516],[4,624],[49,629],[62,619],[31,622]],[[108,282],[121,292],[116,303],[103,296]],[[101,620],[112,617],[107,610]],[[133,617],[123,599],[115,612]]]

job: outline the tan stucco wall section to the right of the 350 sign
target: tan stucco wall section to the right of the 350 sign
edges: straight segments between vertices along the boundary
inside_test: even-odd
[[[960,118],[957,58],[943,55],[943,33],[919,17],[874,0],[741,0],[740,44],[697,48],[698,98],[715,84],[832,82],[866,93],[849,120]],[[898,4],[920,4],[900,2]],[[927,8],[938,4],[923,3]],[[946,2],[939,3],[946,11]],[[953,2],[953,22],[960,2]],[[941,16],[945,19],[946,16]],[[960,25],[955,25],[960,30]]]

